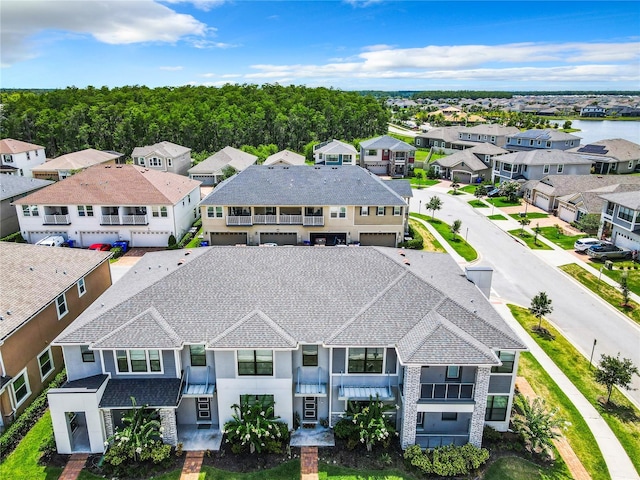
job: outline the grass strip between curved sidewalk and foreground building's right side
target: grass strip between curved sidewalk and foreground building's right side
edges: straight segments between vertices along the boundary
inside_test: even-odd
[[[525,310],[526,314],[528,311]],[[512,309],[513,313],[513,309]],[[515,316],[515,314],[514,314]],[[535,320],[535,317],[531,317]],[[537,323],[533,323],[537,325]],[[584,421],[578,409],[573,405],[569,397],[558,387],[538,361],[529,352],[520,355],[518,375],[523,376],[531,385],[531,388],[547,402],[548,408],[558,408],[558,415],[567,424],[562,435],[573,448],[577,457],[591,475],[591,478],[610,478],[609,470],[602,457],[602,453],[596,444],[596,440]],[[557,452],[556,452],[556,455]],[[571,478],[569,476],[569,478]]]

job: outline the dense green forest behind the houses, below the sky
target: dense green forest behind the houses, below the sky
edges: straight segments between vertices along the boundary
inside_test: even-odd
[[[0,137],[43,145],[48,157],[96,148],[130,154],[167,140],[194,152],[386,133],[389,113],[371,96],[280,85],[3,91]]]

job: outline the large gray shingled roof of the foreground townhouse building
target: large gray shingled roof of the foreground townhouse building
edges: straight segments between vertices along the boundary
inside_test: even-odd
[[[398,345],[408,363],[428,353],[459,365],[497,364],[491,349],[525,348],[446,254],[401,256],[383,247],[202,247],[189,256],[182,252],[186,261],[178,267],[180,253],[145,255],[56,343],[113,348],[114,331],[133,327],[131,319],[154,309],[183,344],[210,348]],[[417,324],[434,323],[429,315],[444,328],[438,337],[443,340],[425,339],[428,352],[405,351]],[[152,337],[165,348],[158,334],[142,332],[131,335],[126,347],[150,348]],[[454,337],[458,346],[452,350]]]

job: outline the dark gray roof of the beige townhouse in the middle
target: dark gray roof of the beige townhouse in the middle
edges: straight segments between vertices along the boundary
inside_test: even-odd
[[[252,165],[218,185],[201,205],[406,205],[379,177],[354,166]]]

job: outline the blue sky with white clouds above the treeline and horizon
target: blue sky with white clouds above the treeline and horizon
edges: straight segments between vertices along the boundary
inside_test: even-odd
[[[2,0],[0,85],[640,90],[638,1]]]

